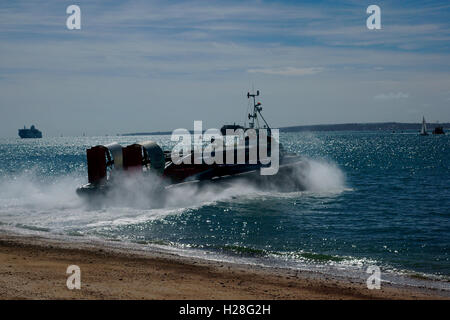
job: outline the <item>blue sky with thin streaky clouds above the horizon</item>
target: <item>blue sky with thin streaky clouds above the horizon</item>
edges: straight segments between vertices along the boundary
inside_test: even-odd
[[[220,128],[253,89],[272,127],[450,122],[450,3],[0,2],[0,137]]]

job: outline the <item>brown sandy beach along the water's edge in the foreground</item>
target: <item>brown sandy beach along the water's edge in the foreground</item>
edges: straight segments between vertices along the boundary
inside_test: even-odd
[[[73,264],[81,269],[80,290],[66,286]],[[0,275],[1,299],[449,299],[438,290],[368,290],[363,282],[295,270],[4,233]]]

